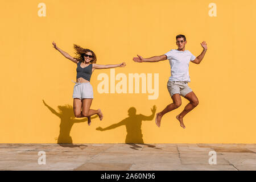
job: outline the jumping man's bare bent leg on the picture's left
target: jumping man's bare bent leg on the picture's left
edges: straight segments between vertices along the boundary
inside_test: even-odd
[[[164,110],[162,110],[160,113],[156,114],[155,123],[158,127],[160,127],[161,119],[164,114],[166,114],[174,109],[177,109],[177,107],[179,107],[181,105],[180,94],[176,93],[176,94],[172,95],[172,101],[174,101],[172,104],[169,104],[168,106],[166,106],[166,108],[164,108]]]

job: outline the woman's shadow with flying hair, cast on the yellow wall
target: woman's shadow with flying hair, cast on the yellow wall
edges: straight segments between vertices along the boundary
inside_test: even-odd
[[[61,147],[86,146],[82,144],[73,144],[72,138],[70,136],[70,131],[74,123],[86,122],[88,121],[88,119],[75,119],[75,115],[73,114],[73,107],[71,105],[58,106],[59,112],[57,112],[52,107],[48,106],[46,102],[44,102],[44,100],[43,103],[53,114],[57,115],[57,117],[60,118],[60,134],[57,139],[57,144],[59,144]],[[92,117],[91,119],[93,118],[97,118],[97,115]]]

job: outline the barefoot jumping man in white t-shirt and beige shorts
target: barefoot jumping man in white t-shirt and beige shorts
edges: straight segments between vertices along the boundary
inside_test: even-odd
[[[171,49],[171,51],[167,52],[162,56],[143,58],[142,56],[137,55],[138,57],[133,58],[135,62],[139,63],[158,62],[167,59],[170,62],[171,77],[168,80],[167,88],[171,95],[173,103],[166,106],[166,108],[162,110],[160,113],[156,114],[155,123],[158,127],[160,127],[161,119],[164,114],[170,112],[171,110],[177,109],[177,107],[181,105],[180,96],[183,96],[189,101],[189,103],[185,106],[184,110],[176,116],[176,118],[180,122],[180,126],[183,127],[183,129],[185,129],[183,117],[199,104],[199,100],[196,97],[196,94],[188,86],[188,82],[190,82],[188,66],[189,61],[195,64],[201,63],[205,53],[207,52],[207,43],[201,43],[201,46],[203,47],[203,52],[197,57],[192,55],[190,51],[185,50],[185,44],[187,44],[185,35],[177,35],[177,49]]]

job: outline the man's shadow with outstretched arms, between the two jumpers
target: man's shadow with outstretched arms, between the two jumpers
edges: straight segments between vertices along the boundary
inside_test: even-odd
[[[142,114],[136,114],[135,107],[130,107],[130,109],[128,110],[129,117],[123,119],[119,123],[110,125],[105,129],[102,129],[102,127],[97,127],[96,130],[99,130],[99,131],[112,130],[112,129],[115,129],[116,127],[125,125],[126,131],[127,131],[125,143],[129,144],[131,146],[130,148],[133,148],[134,150],[138,150],[137,148],[142,148],[137,144],[143,144],[148,147],[156,148],[154,145],[144,143],[143,135],[141,131],[142,121],[151,121],[154,118],[155,111],[156,111],[155,105],[153,106],[151,111],[152,111],[152,114],[150,116],[146,116]],[[156,149],[161,149],[161,148],[156,148]]]

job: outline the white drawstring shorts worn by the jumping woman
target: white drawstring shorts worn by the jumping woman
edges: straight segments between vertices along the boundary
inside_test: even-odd
[[[76,85],[74,86],[73,90],[73,98],[93,98],[93,88],[90,85],[90,82],[75,82]]]

